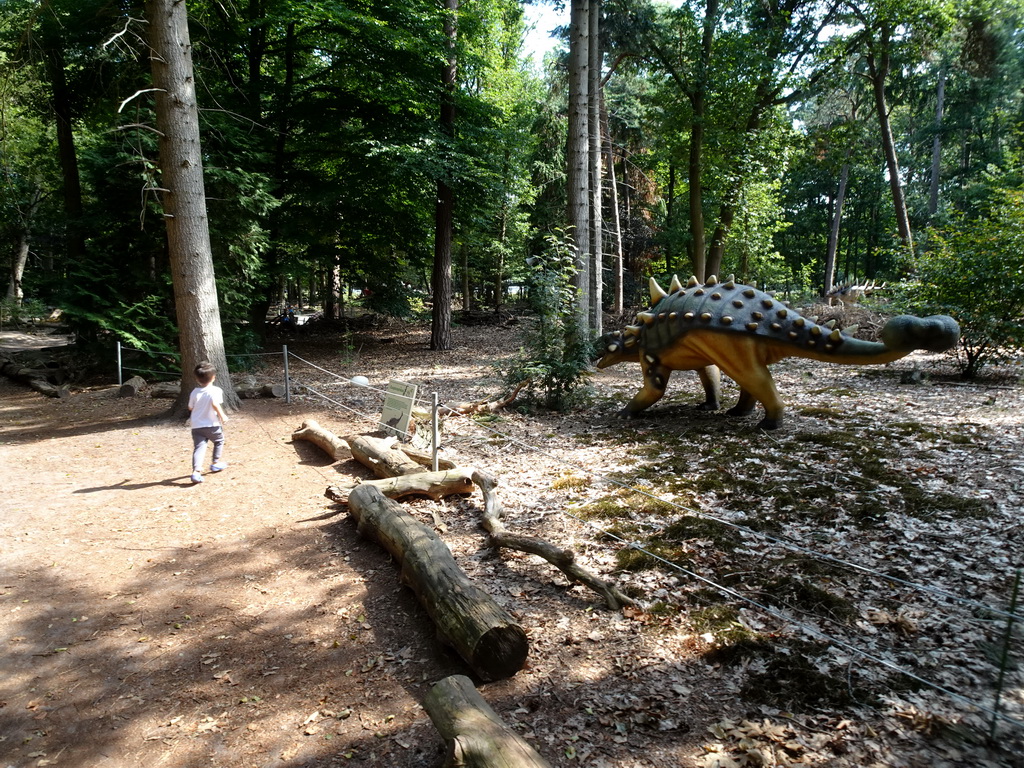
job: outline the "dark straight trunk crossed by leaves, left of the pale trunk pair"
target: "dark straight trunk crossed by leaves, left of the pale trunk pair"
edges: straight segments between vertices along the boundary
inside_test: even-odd
[[[455,140],[455,84],[459,0],[444,0],[444,36],[449,40],[449,58],[442,75],[441,133]],[[442,171],[442,173],[446,173]],[[437,205],[434,216],[434,270],[431,279],[433,310],[430,325],[430,348],[452,348],[452,240],[455,216],[455,193],[445,179],[437,181]]]

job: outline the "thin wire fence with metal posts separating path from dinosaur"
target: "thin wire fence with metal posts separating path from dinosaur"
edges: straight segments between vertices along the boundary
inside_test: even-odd
[[[133,351],[139,352],[141,350]],[[150,351],[145,353],[152,355],[173,356],[176,359],[180,359],[176,352]],[[284,364],[286,398],[289,402],[295,394],[304,394],[316,398],[318,401],[330,408],[336,408],[347,412],[355,418],[367,421],[368,423],[380,425],[379,409],[376,409],[371,413],[360,410],[360,408],[351,403],[353,400],[360,399],[361,395],[366,393],[372,393],[373,396],[379,397],[381,402],[383,402],[384,398],[388,395],[387,390],[374,387],[370,385],[369,382],[361,380],[358,377],[350,378],[330,371],[316,365],[315,362],[289,352],[287,345],[282,347],[281,352],[231,355],[231,357],[261,356],[280,356],[282,358]],[[118,345],[118,372],[119,384],[122,383],[124,372],[146,373],[144,369],[129,368],[122,365],[122,347],[120,344]],[[359,393],[359,397],[351,397],[350,393],[356,391]],[[436,394],[433,394],[429,401],[426,400],[422,394],[418,394],[416,402],[413,404],[418,406],[418,411],[432,413],[433,415],[433,428],[431,430],[430,442],[435,450],[435,455],[436,449],[440,444],[440,438],[436,427],[438,417],[460,419],[461,423],[467,425],[469,429],[477,430],[478,436],[475,438],[475,442],[473,438],[469,437],[453,438],[453,441],[461,439],[464,443],[466,443],[466,447],[469,451],[478,450],[478,447],[470,445],[471,442],[474,442],[474,445],[478,446],[479,444],[487,443],[488,440],[500,439],[506,445],[514,445],[523,452],[543,456],[545,459],[556,465],[567,467],[573,472],[582,472],[590,475],[603,484],[623,488],[652,502],[656,502],[659,505],[667,505],[669,508],[675,509],[682,514],[697,516],[699,518],[712,520],[716,523],[727,526],[740,535],[743,538],[744,543],[757,541],[764,546],[779,547],[803,557],[811,558],[821,563],[827,563],[830,566],[872,580],[874,585],[885,587],[893,593],[891,598],[894,603],[909,604],[908,598],[895,594],[895,590],[899,589],[904,593],[910,592],[918,594],[922,598],[930,598],[933,601],[932,605],[935,610],[944,611],[945,614],[951,618],[955,618],[968,625],[973,624],[976,626],[983,626],[989,630],[993,628],[1001,630],[999,632],[1000,642],[997,644],[997,647],[991,648],[991,652],[989,653],[994,660],[982,657],[983,654],[981,654],[980,651],[979,656],[974,659],[975,666],[987,666],[993,679],[990,701],[980,700],[977,696],[970,695],[963,691],[953,690],[948,683],[940,682],[927,674],[910,669],[905,664],[900,664],[897,660],[894,660],[894,658],[897,657],[897,654],[893,651],[893,649],[889,649],[888,651],[879,651],[865,647],[866,642],[863,638],[858,642],[856,638],[851,639],[848,636],[840,637],[838,633],[841,631],[849,635],[851,631],[849,624],[844,625],[840,622],[831,621],[827,616],[822,616],[818,613],[811,614],[807,611],[803,611],[803,617],[800,617],[794,615],[794,613],[801,613],[801,611],[794,609],[793,606],[787,606],[791,608],[788,611],[780,610],[779,608],[768,604],[763,599],[757,599],[750,594],[745,594],[739,589],[722,584],[721,581],[716,581],[715,579],[697,572],[692,568],[687,568],[679,562],[663,557],[662,555],[645,548],[639,542],[624,538],[614,531],[595,523],[593,520],[575,514],[572,512],[571,508],[562,510],[568,517],[571,517],[577,522],[595,530],[599,540],[614,541],[620,547],[635,550],[651,560],[660,563],[670,571],[674,571],[677,574],[694,580],[695,582],[705,585],[709,589],[715,590],[719,594],[731,600],[749,606],[751,609],[765,616],[770,616],[773,620],[780,622],[793,630],[797,630],[809,637],[828,643],[836,648],[843,649],[847,653],[851,654],[851,666],[853,665],[853,659],[862,659],[863,662],[873,664],[902,676],[906,680],[911,680],[921,686],[930,688],[953,701],[957,701],[979,716],[987,716],[987,722],[990,727],[990,735],[995,733],[996,724],[1000,722],[1013,728],[1024,729],[1024,713],[1019,711],[1022,707],[1024,707],[1024,697],[1022,697],[1021,689],[1019,687],[1019,676],[1018,679],[1013,682],[1007,679],[1008,670],[1013,673],[1019,673],[1018,665],[1021,655],[1019,652],[1014,651],[1014,648],[1016,647],[1014,643],[1017,640],[1020,628],[1024,626],[1024,612],[1021,612],[1018,607],[1020,587],[1019,569],[1017,570],[1016,578],[1013,582],[1014,586],[1012,594],[1008,597],[1007,607],[992,605],[971,597],[956,594],[947,589],[942,589],[933,584],[913,582],[909,579],[903,579],[890,572],[884,572],[862,563],[837,557],[827,552],[821,552],[813,547],[809,547],[795,539],[755,529],[720,515],[711,514],[707,510],[679,504],[674,499],[666,498],[644,489],[635,480],[623,480],[595,472],[592,468],[587,467],[580,462],[570,461],[562,456],[522,440],[515,435],[502,432],[490,424],[466,417],[459,411],[453,411],[446,407],[438,406]],[[399,433],[399,436],[403,439],[412,439],[414,437],[414,435],[410,432]],[[479,439],[480,436],[482,436],[483,439]],[[951,612],[949,606],[958,606],[962,610],[961,612],[954,614]],[[825,624],[830,624],[834,631],[827,632],[821,629],[821,627],[811,623],[810,620],[812,618],[817,622],[823,621]],[[1012,687],[1014,685],[1018,687]],[[1011,689],[1016,692],[1016,708],[1012,713],[1009,711],[1010,708],[1007,706],[1005,700],[1008,687],[1011,687]]]

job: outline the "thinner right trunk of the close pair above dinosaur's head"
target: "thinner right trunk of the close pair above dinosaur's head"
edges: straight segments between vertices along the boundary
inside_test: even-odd
[[[587,131],[590,134],[588,163],[590,165],[590,304],[594,336],[603,333],[604,307],[604,221],[601,213],[601,0],[590,0],[590,42],[587,71],[589,98]]]

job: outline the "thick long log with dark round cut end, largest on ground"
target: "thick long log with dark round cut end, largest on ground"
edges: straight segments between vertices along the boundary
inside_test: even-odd
[[[447,546],[397,502],[364,483],[348,497],[361,536],[386,549],[437,634],[482,680],[511,677],[526,663],[526,633],[458,566]]]

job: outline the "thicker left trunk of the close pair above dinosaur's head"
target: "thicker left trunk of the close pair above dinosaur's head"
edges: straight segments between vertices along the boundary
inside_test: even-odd
[[[571,0],[569,15],[569,103],[566,145],[568,222],[575,248],[575,334],[590,337],[590,0]]]

